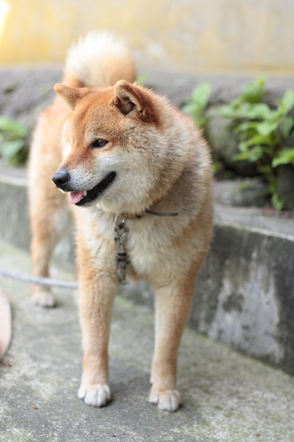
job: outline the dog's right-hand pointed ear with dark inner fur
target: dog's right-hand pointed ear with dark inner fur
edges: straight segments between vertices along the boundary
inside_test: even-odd
[[[144,94],[144,90],[135,84],[120,80],[114,86],[114,94],[117,99],[116,106],[125,115],[130,112],[133,115],[135,115],[135,112],[144,115],[144,108],[147,105],[147,97]]]

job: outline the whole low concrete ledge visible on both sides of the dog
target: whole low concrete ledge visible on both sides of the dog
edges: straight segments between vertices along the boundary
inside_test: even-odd
[[[0,238],[29,249],[25,170],[0,168]],[[65,238],[55,263],[73,270]],[[211,251],[198,277],[189,325],[294,374],[294,220],[216,205]],[[17,269],[16,269],[17,270]],[[145,283],[121,293],[152,307]]]

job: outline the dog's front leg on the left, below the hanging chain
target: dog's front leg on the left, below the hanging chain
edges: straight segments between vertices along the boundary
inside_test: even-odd
[[[109,260],[109,255],[112,256],[111,246],[108,259],[105,259],[102,250],[105,250],[105,245],[98,257],[93,256],[84,245],[79,245],[78,249],[79,313],[84,351],[78,397],[88,405],[102,407],[110,401],[107,347],[113,300],[118,289],[115,258]]]

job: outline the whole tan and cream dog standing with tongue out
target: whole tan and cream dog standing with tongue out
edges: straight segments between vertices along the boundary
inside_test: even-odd
[[[84,350],[78,397],[97,407],[110,400],[109,325],[126,266],[127,276],[145,278],[155,293],[149,401],[175,411],[177,352],[212,232],[210,154],[190,117],[134,80],[133,60],[109,35],[90,33],[70,51],[59,97],[41,115],[31,150],[34,275],[48,275],[69,193]],[[44,288],[34,288],[33,300],[53,304]]]

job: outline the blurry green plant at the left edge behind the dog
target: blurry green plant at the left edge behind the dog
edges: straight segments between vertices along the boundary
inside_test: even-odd
[[[16,165],[25,161],[27,128],[14,118],[0,115],[0,156]]]

